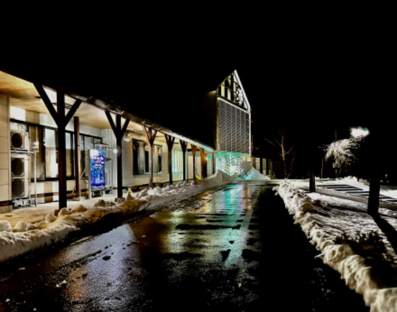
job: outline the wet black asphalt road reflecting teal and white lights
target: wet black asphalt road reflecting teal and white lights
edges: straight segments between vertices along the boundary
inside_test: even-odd
[[[369,311],[273,185],[207,190],[0,266],[0,311]]]

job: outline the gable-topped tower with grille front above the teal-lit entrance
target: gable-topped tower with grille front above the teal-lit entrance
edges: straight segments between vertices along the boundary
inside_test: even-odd
[[[217,88],[216,150],[251,156],[251,106],[237,70]]]

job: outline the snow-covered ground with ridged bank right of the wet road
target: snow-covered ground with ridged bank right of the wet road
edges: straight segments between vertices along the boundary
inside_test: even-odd
[[[368,184],[346,178],[330,183],[368,190]],[[302,227],[319,257],[340,273],[346,285],[363,296],[373,312],[397,312],[397,255],[389,238],[367,213],[367,205],[321,193],[306,193],[303,183],[285,180],[274,187],[295,223]],[[397,198],[397,190],[382,189]],[[397,229],[397,211],[379,209]],[[397,233],[397,232],[396,232]]]

